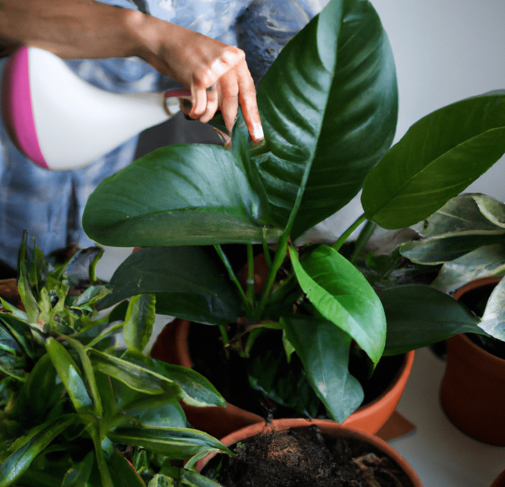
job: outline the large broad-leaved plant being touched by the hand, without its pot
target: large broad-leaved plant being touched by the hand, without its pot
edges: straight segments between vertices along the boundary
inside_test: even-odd
[[[339,252],[343,243],[366,220],[386,229],[423,220],[494,164],[505,151],[505,95],[444,107],[389,149],[397,90],[387,36],[369,2],[331,0],[283,48],[258,86],[258,103],[263,143],[249,143],[239,117],[231,150],[162,148],[91,194],[87,234],[104,245],[142,247],[118,269],[102,306],[155,293],[157,312],[217,325],[224,342],[245,355],[273,330],[271,343],[286,361],[299,359],[315,395],[341,422],[363,400],[349,373],[351,349],[371,372],[382,356],[406,348],[400,333],[385,348],[384,301],[355,257]],[[365,213],[334,245],[294,245],[360,189]],[[268,268],[258,294],[254,243]],[[242,245],[247,256],[245,289],[226,244]],[[402,286],[387,295],[389,302],[406,299]],[[414,348],[462,328],[480,330],[430,286],[417,287],[410,305],[424,311],[433,301],[443,319],[433,327],[421,318],[428,329]],[[237,320],[241,328],[230,336],[226,327]],[[411,322],[410,331],[419,325]]]

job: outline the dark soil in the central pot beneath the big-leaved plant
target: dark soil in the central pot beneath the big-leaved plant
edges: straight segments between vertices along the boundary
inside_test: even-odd
[[[281,338],[275,336],[276,333],[279,333],[278,331],[274,330],[268,333],[263,338],[268,341],[268,344],[257,340],[255,347],[269,348],[274,342],[282,346]],[[207,377],[229,403],[265,418],[269,415],[273,418],[300,417],[299,413],[272,403],[264,398],[262,393],[249,386],[248,360],[232,351],[230,351],[228,358],[225,356],[221,334],[217,326],[191,323],[188,344],[193,369]],[[253,353],[254,351],[255,348],[252,349]],[[404,355],[382,357],[373,376],[367,378],[366,371],[360,371],[358,363],[353,363],[351,359],[349,370],[352,375],[358,378],[364,388],[364,405],[372,402],[385,391],[397,376],[404,360]],[[356,362],[359,361],[356,360]],[[301,362],[296,355],[293,355],[289,366],[284,361],[280,365],[276,364],[275,367],[278,374],[282,374],[285,367],[298,368],[299,371],[302,369]],[[308,416],[326,417],[326,410],[320,403],[317,414]]]

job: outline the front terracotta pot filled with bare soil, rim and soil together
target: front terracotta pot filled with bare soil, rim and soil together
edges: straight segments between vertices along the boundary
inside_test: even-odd
[[[234,431],[228,461],[208,455],[197,469],[236,485],[388,485],[421,487],[412,467],[377,436],[328,420],[280,419]]]

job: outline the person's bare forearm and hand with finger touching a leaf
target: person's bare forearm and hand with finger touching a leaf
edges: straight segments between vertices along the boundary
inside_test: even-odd
[[[263,138],[243,51],[203,34],[95,0],[1,0],[0,48],[22,44],[64,59],[138,56],[191,90],[191,110],[181,107],[190,117],[220,109],[231,129],[240,105],[252,139]]]

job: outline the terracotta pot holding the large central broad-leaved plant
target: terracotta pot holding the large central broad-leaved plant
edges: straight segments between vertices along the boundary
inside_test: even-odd
[[[151,350],[151,357],[172,364],[192,367],[187,343],[189,326],[189,321],[180,319],[167,324]],[[402,367],[386,391],[376,400],[358,408],[343,424],[371,434],[379,431],[398,404],[411,372],[413,361],[414,351],[406,354]],[[265,421],[263,417],[229,403],[226,408],[197,408],[186,404],[182,404],[182,407],[193,427],[206,431],[217,438],[226,436],[246,425]]]

